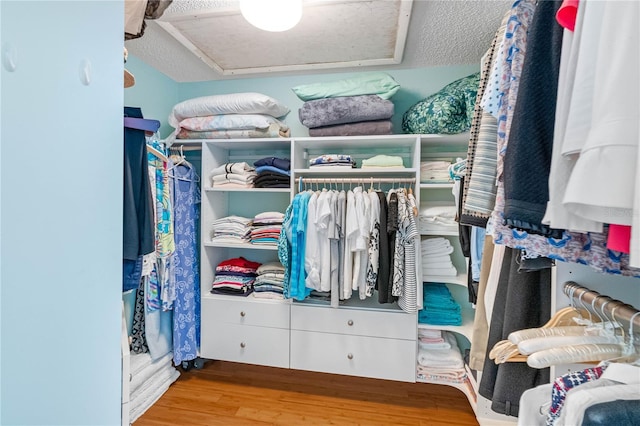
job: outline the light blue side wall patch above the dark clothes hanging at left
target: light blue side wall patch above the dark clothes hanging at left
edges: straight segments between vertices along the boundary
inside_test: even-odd
[[[179,84],[133,55],[125,67],[135,76],[136,84],[124,89],[124,104],[142,108],[145,118],[160,120],[160,135],[166,138],[173,131],[167,117],[178,103]]]

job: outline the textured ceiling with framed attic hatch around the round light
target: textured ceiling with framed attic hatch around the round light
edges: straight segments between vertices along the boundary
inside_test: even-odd
[[[308,1],[298,26],[269,33],[246,23],[237,1],[174,0],[162,22],[147,20],[144,36],[126,47],[177,82],[472,64],[479,62],[511,4]]]

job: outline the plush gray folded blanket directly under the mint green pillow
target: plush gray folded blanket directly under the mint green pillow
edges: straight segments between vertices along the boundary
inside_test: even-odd
[[[308,128],[387,120],[393,116],[393,102],[378,95],[316,99],[302,104],[300,122]]]

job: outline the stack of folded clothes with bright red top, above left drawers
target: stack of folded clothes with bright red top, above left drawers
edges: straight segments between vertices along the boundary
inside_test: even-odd
[[[252,262],[244,257],[227,259],[216,266],[216,275],[211,286],[211,293],[248,296],[253,291],[253,284],[258,275],[260,263]]]

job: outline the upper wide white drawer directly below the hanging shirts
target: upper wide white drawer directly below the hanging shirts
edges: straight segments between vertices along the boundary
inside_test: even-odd
[[[324,306],[291,306],[291,329],[415,340],[415,314]]]

